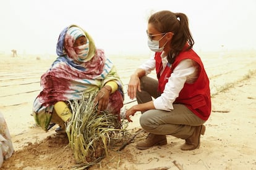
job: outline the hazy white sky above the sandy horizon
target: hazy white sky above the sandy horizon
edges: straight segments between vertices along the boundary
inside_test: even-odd
[[[171,10],[189,18],[197,51],[255,49],[255,0],[1,0],[0,53],[55,54],[61,30],[82,26],[109,54],[145,54],[151,12]]]

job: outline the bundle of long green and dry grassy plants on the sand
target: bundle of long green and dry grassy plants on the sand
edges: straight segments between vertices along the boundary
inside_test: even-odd
[[[83,164],[83,168],[105,158],[110,144],[121,139],[126,132],[116,115],[97,110],[95,96],[93,93],[70,102],[72,118],[67,123],[66,132],[75,161]]]

